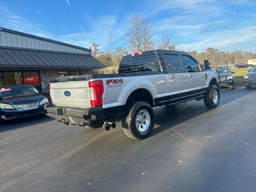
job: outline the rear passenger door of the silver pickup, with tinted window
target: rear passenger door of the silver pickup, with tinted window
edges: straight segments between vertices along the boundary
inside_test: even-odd
[[[188,73],[184,69],[178,52],[163,52],[168,76],[170,100],[188,95]]]

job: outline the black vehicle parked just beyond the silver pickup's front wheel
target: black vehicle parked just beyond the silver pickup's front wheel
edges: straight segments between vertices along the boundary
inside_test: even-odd
[[[220,88],[234,89],[234,76],[235,72],[231,71],[228,66],[220,66],[212,68],[220,74]]]

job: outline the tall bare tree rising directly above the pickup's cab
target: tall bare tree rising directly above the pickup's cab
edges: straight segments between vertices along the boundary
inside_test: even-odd
[[[134,13],[131,24],[125,34],[124,40],[129,44],[131,52],[141,52],[154,48],[154,32],[146,19],[138,13]]]

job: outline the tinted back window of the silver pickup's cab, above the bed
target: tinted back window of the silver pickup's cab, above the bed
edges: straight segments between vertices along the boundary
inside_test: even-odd
[[[161,71],[155,52],[136,56],[125,56],[121,59],[118,73],[157,72]]]

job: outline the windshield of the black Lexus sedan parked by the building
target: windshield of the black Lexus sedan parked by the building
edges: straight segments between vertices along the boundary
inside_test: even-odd
[[[36,94],[38,90],[34,86],[10,86],[0,89],[0,97],[8,97],[15,95]]]

